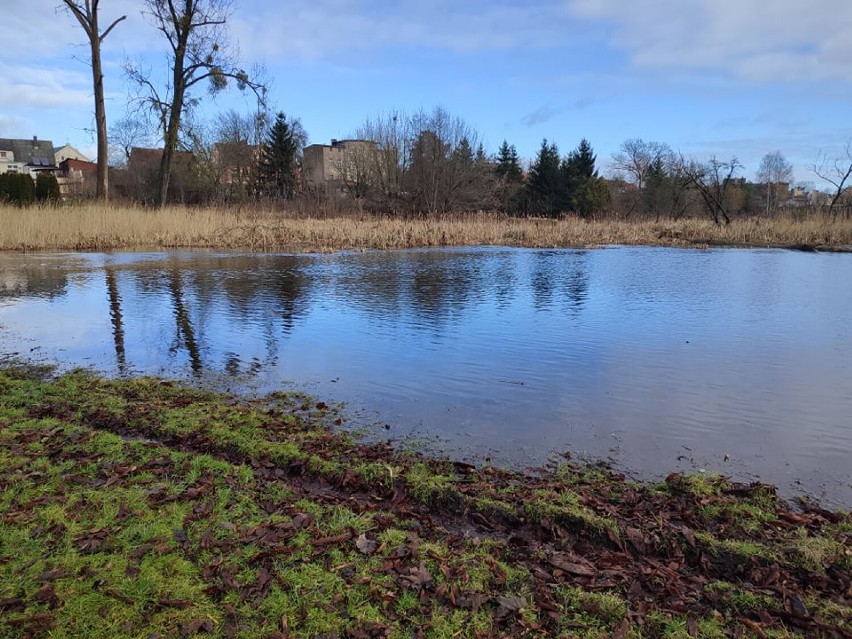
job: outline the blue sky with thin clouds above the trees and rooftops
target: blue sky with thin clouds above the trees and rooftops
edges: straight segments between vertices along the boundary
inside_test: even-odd
[[[93,152],[85,37],[59,0],[4,1],[0,137],[38,135]],[[121,62],[165,68],[142,0],[103,0],[126,14],[105,42],[107,114],[125,115]],[[351,135],[394,109],[442,106],[489,152],[506,139],[532,158],[587,138],[602,173],[629,138],[686,155],[736,155],[754,177],[780,150],[797,180],[820,152],[852,138],[848,0],[234,0],[229,24],[245,66],[265,65],[271,101],[311,142]],[[205,100],[209,117],[252,101]]]

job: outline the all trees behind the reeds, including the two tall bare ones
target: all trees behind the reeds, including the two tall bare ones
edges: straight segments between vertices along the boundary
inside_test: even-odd
[[[231,0],[140,0],[153,26],[166,40],[168,73],[164,77],[140,64],[127,62],[124,70],[138,89],[137,111],[125,123],[150,117],[156,124],[163,152],[150,185],[151,198],[165,204],[176,158],[192,153],[192,179],[209,192],[221,195],[227,185],[230,196],[293,197],[304,191],[300,171],[301,149],[306,136],[298,120],[279,114],[274,122],[266,105],[267,88],[242,69],[227,40],[226,24]],[[90,44],[98,138],[97,194],[108,194],[108,135],[103,95],[100,47],[125,16],[105,29],[100,27],[99,0],[63,0],[82,27]],[[194,121],[194,108],[206,87],[211,94],[230,85],[250,91],[258,101],[258,114],[247,119],[230,117],[231,130],[220,121],[211,136]],[[234,126],[236,125],[236,126]],[[120,131],[117,137],[121,137]],[[375,143],[375,152],[360,147],[344,154],[338,167],[345,190],[373,208],[436,213],[499,208],[516,214],[553,217],[574,212],[583,217],[601,211],[617,211],[625,217],[666,215],[672,218],[703,212],[717,223],[729,222],[739,211],[760,208],[773,214],[781,191],[773,185],[789,182],[792,169],[780,153],[769,154],[758,170],[766,185],[762,194],[750,193],[739,177],[742,165],[736,158],[707,161],[684,158],[667,145],[628,140],[613,156],[620,179],[605,181],[595,167],[595,155],[587,140],[561,157],[553,143],[543,141],[525,175],[515,148],[504,142],[498,155],[489,158],[478,133],[443,109],[412,115],[392,113],[368,120],[355,136]],[[214,139],[216,143],[210,140]],[[122,140],[129,155],[131,144]],[[258,152],[258,148],[261,150]],[[235,163],[233,157],[244,156]],[[222,169],[237,171],[223,179]],[[244,173],[243,173],[244,171]],[[835,192],[832,212],[850,212],[848,183],[852,176],[852,150],[832,162],[826,157],[812,171],[830,183]],[[205,179],[206,174],[206,179]]]

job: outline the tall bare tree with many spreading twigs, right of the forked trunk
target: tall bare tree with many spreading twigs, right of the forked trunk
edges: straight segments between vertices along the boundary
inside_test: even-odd
[[[234,81],[262,100],[265,87],[239,68],[225,38],[231,0],[144,0],[154,26],[169,44],[170,80],[157,90],[149,73],[128,63],[125,70],[144,95],[142,101],[157,116],[163,132],[163,156],[157,172],[158,203],[166,203],[172,161],[178,148],[182,117],[200,98],[192,92],[207,82],[211,94]]]

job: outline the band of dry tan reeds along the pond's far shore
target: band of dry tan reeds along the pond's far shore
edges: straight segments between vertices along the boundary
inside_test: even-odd
[[[287,211],[80,204],[18,209],[0,205],[0,250],[220,248],[335,251],[420,246],[529,247],[640,244],[852,248],[852,220],[752,218],[593,221],[518,219],[477,214],[403,220],[368,215],[297,216]]]

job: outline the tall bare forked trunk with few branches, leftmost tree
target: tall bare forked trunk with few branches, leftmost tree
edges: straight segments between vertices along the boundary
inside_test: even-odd
[[[121,16],[101,32],[98,16],[100,0],[62,0],[68,11],[77,18],[77,22],[86,32],[91,49],[92,85],[95,93],[95,129],[98,138],[98,184],[96,196],[106,200],[109,197],[109,142],[107,140],[106,105],[104,104],[104,73],[101,63],[101,44],[127,16]]]

